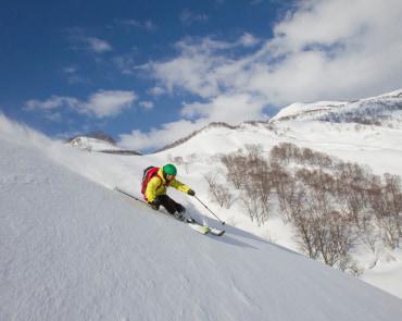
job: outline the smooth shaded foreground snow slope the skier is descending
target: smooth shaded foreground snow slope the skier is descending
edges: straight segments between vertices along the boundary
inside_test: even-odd
[[[354,277],[235,227],[197,234],[59,163],[93,158],[4,119],[0,134],[1,320],[402,316],[402,300]]]

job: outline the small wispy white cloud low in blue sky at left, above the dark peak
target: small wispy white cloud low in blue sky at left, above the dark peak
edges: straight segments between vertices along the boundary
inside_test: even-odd
[[[73,97],[51,96],[46,100],[32,99],[26,101],[25,110],[41,111],[49,120],[60,120],[60,110],[68,109],[98,119],[114,116],[133,106],[137,100],[134,91],[99,90],[92,94],[88,101]]]

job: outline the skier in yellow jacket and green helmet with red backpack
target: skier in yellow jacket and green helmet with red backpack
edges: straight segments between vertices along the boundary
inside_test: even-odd
[[[159,169],[148,168],[145,171],[141,192],[146,201],[154,210],[159,210],[160,206],[163,206],[169,214],[184,220],[185,207],[166,195],[166,187],[172,186],[190,196],[194,196],[196,192],[177,181],[176,174],[177,170],[173,164],[166,164]]]

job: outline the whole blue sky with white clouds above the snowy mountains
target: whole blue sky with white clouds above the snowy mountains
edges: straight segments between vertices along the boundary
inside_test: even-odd
[[[381,2],[2,1],[0,111],[152,150],[212,121],[391,91],[402,4]]]

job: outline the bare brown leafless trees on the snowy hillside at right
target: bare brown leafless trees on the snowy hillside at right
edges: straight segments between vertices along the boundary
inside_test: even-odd
[[[227,183],[218,183],[217,174],[205,175],[211,197],[221,207],[239,201],[262,225],[278,203],[304,254],[355,274],[361,270],[351,252],[357,244],[366,245],[376,258],[381,247],[400,247],[400,176],[375,175],[368,168],[289,143],[272,148],[268,157],[263,153],[261,146],[248,145],[221,158],[237,197]]]

